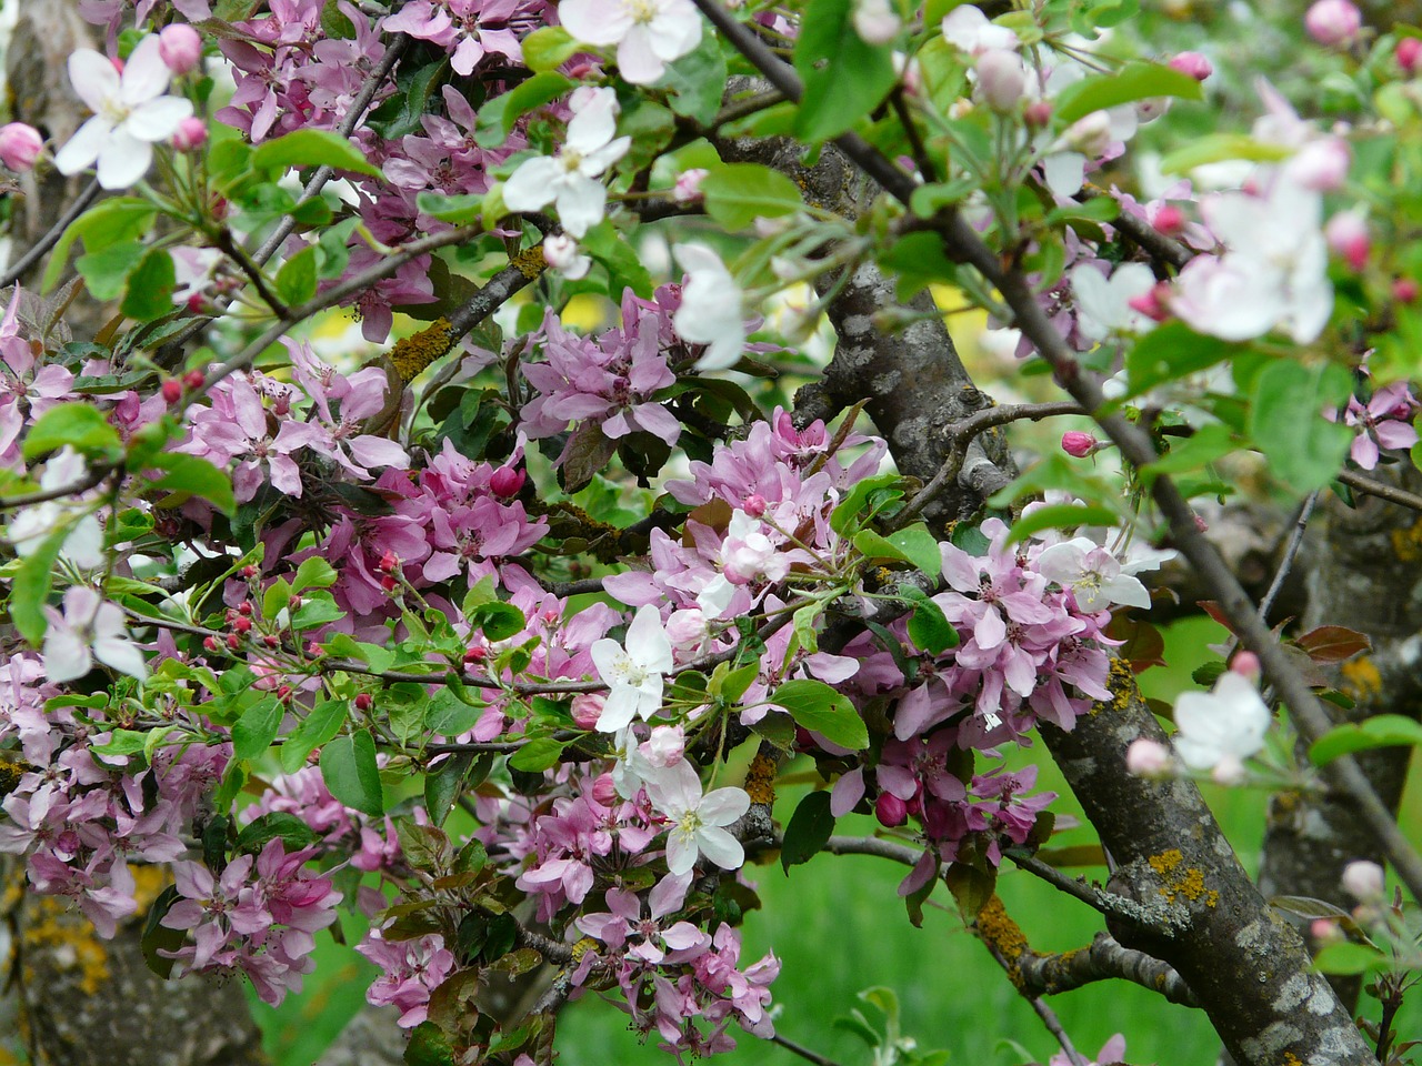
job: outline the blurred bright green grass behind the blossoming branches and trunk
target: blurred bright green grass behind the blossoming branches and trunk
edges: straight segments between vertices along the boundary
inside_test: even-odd
[[[1190,685],[1189,669],[1202,661],[1206,644],[1223,630],[1209,620],[1172,627],[1166,658],[1172,664],[1142,675],[1148,695],[1172,699]],[[1190,664],[1190,667],[1185,665]],[[1028,762],[1035,752],[1014,760]],[[1065,789],[1057,768],[1041,763],[1038,786],[1061,793],[1054,804],[1058,817],[1081,809]],[[1264,796],[1209,787],[1207,799],[1224,830],[1253,873],[1264,829]],[[776,814],[793,810],[801,793],[785,790]],[[859,824],[852,824],[857,822]],[[1409,787],[1404,826],[1418,827],[1416,789]],[[846,819],[840,833],[870,833],[870,819]],[[1091,843],[1088,826],[1059,834],[1054,844]],[[782,961],[772,986],[776,1029],[786,1038],[835,1059],[842,1066],[870,1066],[872,1052],[833,1021],[860,1006],[857,994],[884,985],[900,1001],[903,1033],[920,1049],[943,1048],[953,1063],[1017,1066],[1047,1062],[1057,1053],[1055,1040],[1042,1028],[987,951],[967,932],[940,890],[924,911],[924,924],[909,924],[896,885],[904,874],[880,858],[818,856],[786,877],[778,864],[748,867],[764,908],[747,915],[742,964],[774,949]],[[1085,868],[1092,878],[1105,870]],[[1042,881],[1004,864],[998,893],[1038,951],[1064,951],[1088,944],[1101,928],[1099,915]],[[354,937],[353,937],[354,940]],[[287,999],[277,1011],[257,1005],[266,1046],[277,1066],[310,1066],[346,1021],[360,1009],[374,968],[350,948],[323,938],[320,968],[307,978],[307,991]],[[1116,1032],[1126,1033],[1126,1059],[1132,1063],[1210,1066],[1219,1043],[1199,1011],[1172,1006],[1146,989],[1123,981],[1102,982],[1051,999],[1078,1050],[1094,1056]],[[1376,1016],[1376,1005],[1364,1008]],[[873,1016],[873,1012],[869,1012]],[[1402,1018],[1405,1036],[1418,1036],[1422,1011],[1409,1005]],[[671,1056],[654,1042],[638,1045],[627,1030],[626,1016],[596,996],[570,1005],[559,1018],[557,1050],[562,1066],[665,1066]],[[1025,1053],[1024,1053],[1025,1049]],[[789,1052],[751,1036],[720,1057],[724,1066],[791,1066],[802,1062]]]

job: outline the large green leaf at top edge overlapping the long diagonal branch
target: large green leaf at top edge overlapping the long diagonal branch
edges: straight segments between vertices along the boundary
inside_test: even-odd
[[[795,132],[806,141],[839,136],[889,95],[897,75],[893,48],[855,30],[853,0],[811,0],[795,41],[795,70],[805,82]]]

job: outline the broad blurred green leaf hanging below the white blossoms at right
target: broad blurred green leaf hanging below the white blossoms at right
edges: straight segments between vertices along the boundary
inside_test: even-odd
[[[1321,489],[1337,476],[1354,431],[1325,419],[1322,409],[1342,408],[1351,385],[1342,367],[1291,358],[1271,362],[1256,379],[1250,435],[1270,473],[1295,492]]]

